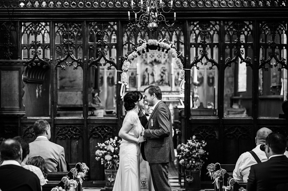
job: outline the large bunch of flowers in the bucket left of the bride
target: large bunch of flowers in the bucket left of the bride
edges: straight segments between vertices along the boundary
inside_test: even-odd
[[[117,170],[119,168],[119,149],[121,140],[110,138],[104,143],[98,143],[98,150],[95,152],[96,160],[101,161],[105,169]]]

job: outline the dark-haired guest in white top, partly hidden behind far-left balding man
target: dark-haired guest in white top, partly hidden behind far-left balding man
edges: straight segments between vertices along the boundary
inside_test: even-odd
[[[45,184],[47,184],[45,178],[44,178],[44,174],[42,173],[41,169],[38,168],[38,166],[33,166],[33,165],[29,165],[27,164],[27,160],[28,160],[28,154],[30,152],[29,150],[29,143],[23,139],[22,137],[14,137],[13,138],[14,140],[18,141],[21,145],[21,148],[22,148],[22,162],[21,162],[21,166],[27,170],[30,170],[31,172],[34,172],[39,180],[40,180],[40,185],[41,187]],[[47,172],[46,172],[47,173]]]

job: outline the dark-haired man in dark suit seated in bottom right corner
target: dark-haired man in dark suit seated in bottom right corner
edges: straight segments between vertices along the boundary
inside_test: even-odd
[[[288,183],[288,158],[283,155],[286,139],[279,133],[270,133],[265,141],[268,161],[251,166],[246,190],[276,190],[278,184]]]

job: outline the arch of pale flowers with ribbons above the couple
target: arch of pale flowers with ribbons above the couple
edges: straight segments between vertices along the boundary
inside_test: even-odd
[[[122,73],[121,73],[121,80],[118,82],[121,84],[121,90],[120,90],[120,96],[121,98],[124,97],[125,94],[125,85],[127,85],[127,71],[129,69],[129,66],[131,64],[131,61],[134,60],[137,56],[140,56],[141,53],[145,53],[146,51],[148,52],[150,50],[158,50],[162,51],[165,53],[171,53],[173,58],[175,59],[175,62],[177,66],[181,69],[179,72],[179,81],[180,83],[180,89],[181,92],[183,93],[184,90],[184,83],[185,83],[185,71],[183,68],[183,65],[185,63],[185,59],[182,55],[182,52],[180,53],[178,50],[176,50],[175,45],[173,42],[167,40],[167,39],[160,39],[160,40],[154,40],[154,39],[149,39],[148,42],[143,39],[138,39],[138,43],[136,47],[134,47],[131,51],[128,51],[128,53],[123,57],[123,64],[122,64]]]

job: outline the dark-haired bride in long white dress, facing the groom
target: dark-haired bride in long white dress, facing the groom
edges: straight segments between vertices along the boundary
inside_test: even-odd
[[[127,114],[124,118],[119,137],[123,140],[119,151],[119,169],[113,191],[140,191],[140,144],[145,141],[140,136],[144,129],[138,113],[144,107],[143,95],[131,91],[124,96],[124,107]]]

